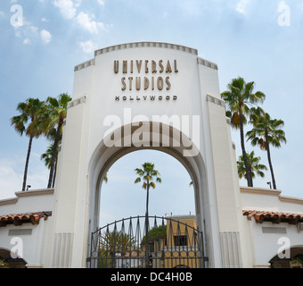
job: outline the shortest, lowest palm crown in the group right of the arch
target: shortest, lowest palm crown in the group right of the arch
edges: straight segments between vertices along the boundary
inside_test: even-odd
[[[256,178],[256,174],[261,178],[264,178],[265,174],[262,171],[267,170],[267,167],[265,164],[259,164],[261,157],[255,157],[255,152],[252,151],[251,153],[247,154],[247,160],[249,163],[251,178],[252,179]],[[242,179],[243,177],[247,178],[243,156],[239,156],[239,161],[237,162],[237,166],[238,166],[239,178],[240,179]]]

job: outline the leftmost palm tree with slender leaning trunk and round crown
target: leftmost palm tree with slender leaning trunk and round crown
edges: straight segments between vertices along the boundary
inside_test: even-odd
[[[38,138],[42,134],[42,130],[38,128],[37,122],[41,120],[40,114],[45,108],[44,101],[40,101],[38,98],[29,98],[25,102],[20,102],[17,105],[17,111],[20,115],[13,116],[11,118],[11,124],[15,130],[22,136],[25,133],[29,137],[28,154],[25,162],[22,191],[25,191],[27,185],[27,177],[29,170],[29,157],[34,138]]]

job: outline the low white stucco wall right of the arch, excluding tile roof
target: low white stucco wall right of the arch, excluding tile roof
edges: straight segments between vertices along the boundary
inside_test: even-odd
[[[242,188],[241,191],[243,210],[303,214],[303,199],[284,197],[281,190]],[[303,231],[296,224],[258,223],[247,216],[243,216],[243,224],[249,267],[269,267],[270,260],[283,249],[303,249]]]

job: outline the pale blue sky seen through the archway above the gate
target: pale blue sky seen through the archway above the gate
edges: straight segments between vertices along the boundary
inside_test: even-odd
[[[192,178],[173,156],[157,150],[134,151],[122,156],[107,172],[102,182],[99,227],[121,218],[145,214],[146,190],[135,168],[150,162],[160,172],[161,183],[155,183],[149,196],[151,216],[195,215]]]

